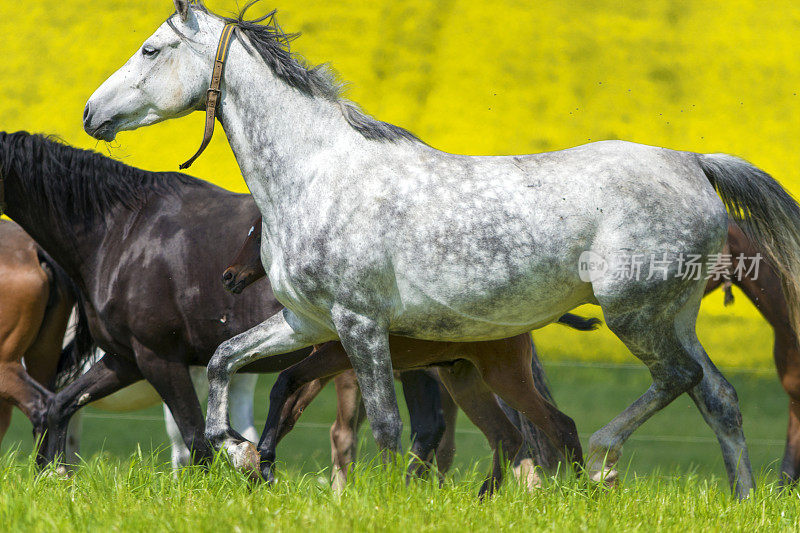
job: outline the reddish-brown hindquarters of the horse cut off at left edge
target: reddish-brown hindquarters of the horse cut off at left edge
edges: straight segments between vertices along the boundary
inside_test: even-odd
[[[22,228],[0,220],[0,441],[13,406],[42,426],[74,303],[61,269]]]

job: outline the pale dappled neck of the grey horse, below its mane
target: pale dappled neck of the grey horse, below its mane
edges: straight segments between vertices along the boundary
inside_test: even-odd
[[[268,233],[310,180],[335,182],[348,154],[375,151],[336,102],[288,86],[239,43],[225,67],[220,122]]]

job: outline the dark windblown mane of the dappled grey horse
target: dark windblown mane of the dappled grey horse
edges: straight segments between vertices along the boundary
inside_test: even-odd
[[[193,7],[214,15],[225,22],[238,24],[234,35],[241,32],[247,36],[247,41],[241,37],[238,37],[238,39],[248,52],[253,54],[253,48],[255,48],[255,53],[264,60],[275,76],[290,87],[294,87],[308,96],[324,98],[338,104],[350,127],[363,137],[390,142],[401,139],[421,142],[410,131],[394,124],[380,121],[365,113],[355,102],[344,98],[342,95],[344,84],[337,80],[336,73],[328,65],[309,66],[302,57],[293,53],[290,44],[300,34],[285,33],[283,31],[275,19],[277,10],[272,10],[263,17],[254,20],[244,20],[247,10],[260,1],[250,0],[247,2],[236,18],[211,13],[201,0],[196,1]],[[176,33],[181,35],[173,25],[171,17],[167,19],[167,23]]]

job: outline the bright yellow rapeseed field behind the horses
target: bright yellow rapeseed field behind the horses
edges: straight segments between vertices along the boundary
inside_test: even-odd
[[[296,52],[331,62],[353,100],[443,150],[527,153],[627,139],[734,153],[800,193],[797,2],[272,1],[254,10],[278,8],[284,29],[303,33]],[[230,0],[206,4],[237,10]],[[92,91],[172,11],[169,0],[0,2],[0,129],[55,133],[133,165],[176,169],[199,144],[200,114],[111,144],[81,126]],[[246,190],[221,131],[192,173]],[[756,364],[744,335],[769,364],[756,311],[741,295],[733,310],[721,300],[704,307],[723,320],[702,333],[728,352],[715,359]],[[555,346],[558,335],[542,338]],[[602,338],[603,357],[630,357]],[[598,352],[577,349],[585,355],[576,357]]]

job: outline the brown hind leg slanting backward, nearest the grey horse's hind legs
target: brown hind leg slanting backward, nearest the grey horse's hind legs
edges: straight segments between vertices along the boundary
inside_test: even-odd
[[[553,446],[565,450],[569,463],[583,464],[575,422],[534,387],[530,335],[485,343],[475,358],[475,366],[495,394],[541,429]]]

